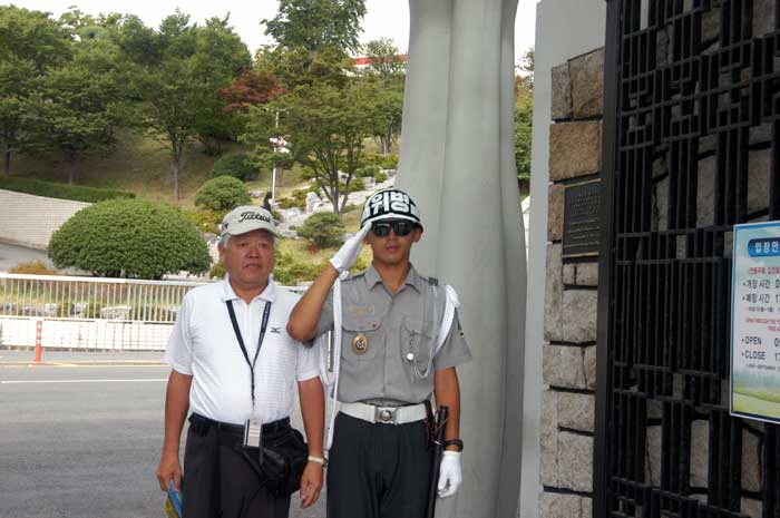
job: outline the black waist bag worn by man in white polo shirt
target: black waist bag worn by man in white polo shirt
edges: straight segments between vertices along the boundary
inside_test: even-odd
[[[254,448],[238,448],[274,496],[285,497],[301,489],[303,468],[309,462],[309,448],[300,431],[290,428],[280,436],[263,437],[262,462]]]

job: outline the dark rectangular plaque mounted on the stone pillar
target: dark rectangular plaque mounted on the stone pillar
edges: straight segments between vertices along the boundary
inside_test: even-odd
[[[601,192],[602,184],[597,179],[565,186],[564,258],[598,255]]]

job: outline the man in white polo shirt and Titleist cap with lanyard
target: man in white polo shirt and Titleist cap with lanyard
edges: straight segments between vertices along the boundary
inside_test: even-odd
[[[304,448],[290,427],[295,383],[309,439],[308,461],[303,449],[301,462],[302,507],[314,504],[322,488],[318,345],[305,346],[286,332],[299,296],[270,276],[275,237],[263,208],[242,206],[227,214],[218,246],[227,275],[187,293],[168,341],[165,361],[173,370],[157,479],[163,490],[170,480],[177,489],[183,486],[186,518],[287,517],[292,489],[267,480],[274,459],[266,447]],[[182,485],[179,439],[188,410]],[[260,430],[263,447],[256,448]]]

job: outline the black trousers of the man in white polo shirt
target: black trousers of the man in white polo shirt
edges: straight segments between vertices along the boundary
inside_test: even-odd
[[[290,496],[275,497],[242,456],[243,434],[191,418],[184,450],[182,512],[186,518],[287,518]],[[203,419],[203,418],[201,418]]]

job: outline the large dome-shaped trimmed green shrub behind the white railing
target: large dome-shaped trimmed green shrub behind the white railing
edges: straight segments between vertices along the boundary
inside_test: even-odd
[[[212,263],[206,242],[186,216],[162,203],[113,199],[82,208],[52,234],[49,257],[58,268],[99,276],[162,278]]]

